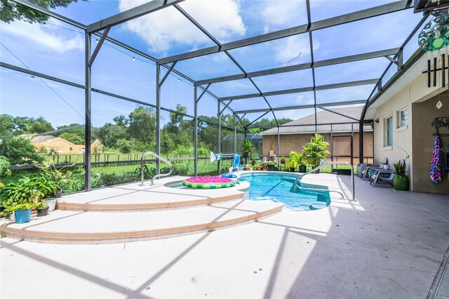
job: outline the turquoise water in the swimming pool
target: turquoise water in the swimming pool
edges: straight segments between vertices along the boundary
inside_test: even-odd
[[[293,211],[314,211],[330,204],[329,192],[298,190],[297,175],[290,173],[245,173],[240,181],[249,182],[249,199],[280,202]],[[302,187],[325,189],[326,186],[302,184]]]

